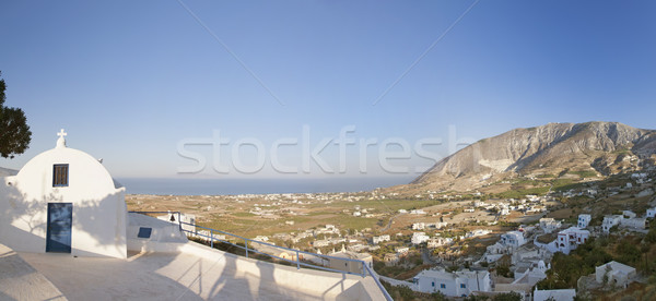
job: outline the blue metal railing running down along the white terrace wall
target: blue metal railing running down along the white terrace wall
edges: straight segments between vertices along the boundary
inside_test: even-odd
[[[269,256],[269,257],[272,257],[272,258],[277,258],[277,260],[290,263],[292,265],[296,265],[296,269],[301,269],[301,267],[303,266],[303,267],[317,268],[317,269],[323,269],[323,270],[328,270],[328,272],[335,272],[335,273],[360,275],[362,277],[366,277],[368,275],[368,276],[371,276],[374,279],[374,281],[376,282],[376,286],[378,286],[378,288],[380,289],[380,291],[385,296],[385,299],[387,299],[388,301],[393,301],[391,297],[389,296],[389,293],[387,292],[387,290],[385,289],[385,287],[383,287],[383,284],[380,284],[380,280],[378,280],[378,277],[376,277],[376,275],[373,272],[373,269],[367,265],[366,262],[364,262],[362,260],[353,260],[353,258],[348,258],[348,257],[337,257],[337,256],[329,256],[329,255],[324,255],[324,254],[316,254],[316,253],[301,251],[301,250],[296,250],[296,249],[290,249],[290,248],[285,248],[285,246],[280,246],[280,245],[276,245],[276,244],[263,242],[263,241],[259,241],[259,240],[244,238],[244,237],[241,237],[241,236],[237,236],[237,234],[224,232],[224,231],[212,229],[212,228],[197,226],[197,225],[194,225],[194,224],[190,224],[190,222],[183,221],[181,220],[181,215],[183,214],[180,212],[130,212],[130,213],[143,214],[143,215],[148,215],[148,214],[177,215],[177,219],[175,221],[172,221],[172,220],[168,220],[168,221],[169,222],[174,222],[174,224],[178,224],[179,230],[183,233],[190,233],[191,237],[203,238],[203,239],[209,240],[210,248],[212,248],[212,249],[214,248],[214,241],[224,242],[224,243],[229,243],[229,244],[231,244],[233,246],[236,246],[236,248],[239,248],[239,249],[244,250],[246,257],[250,257],[250,255],[249,255],[250,253],[262,254],[262,255],[266,255],[266,256]],[[185,229],[184,225],[188,225],[188,226],[194,227],[194,231]],[[208,234],[199,233],[199,231],[198,231],[199,228],[209,231],[210,234],[208,236]],[[232,237],[232,238],[234,238],[235,240],[237,240],[239,242],[243,241],[244,245],[239,245],[237,243],[233,243],[232,241],[229,241],[227,239],[221,239],[221,237],[219,234],[223,234],[225,237]],[[266,248],[268,248],[269,250],[282,250],[282,252],[285,252],[285,254],[291,255],[292,258],[290,260],[290,258],[286,258],[286,257],[281,257],[282,253],[278,253],[278,252],[277,253],[280,256],[262,252],[262,251],[260,251],[261,249],[257,250],[255,248],[248,248],[249,243],[250,243],[250,245],[253,245],[254,243],[261,244],[261,245],[265,245]],[[293,260],[294,257],[295,257],[295,260]],[[315,260],[315,261],[319,260],[320,263],[321,263],[321,265],[309,263],[313,260]],[[331,260],[332,261],[338,261],[338,263],[340,263],[340,264],[343,263],[344,266],[349,270],[336,269],[336,268],[327,267],[325,261],[327,261],[328,265],[330,266],[330,261]],[[362,266],[362,270],[360,270],[360,267],[358,267],[359,272],[353,272],[353,269],[351,268],[352,266],[350,266],[349,263],[353,263],[353,264],[355,264],[355,266],[361,265]]]

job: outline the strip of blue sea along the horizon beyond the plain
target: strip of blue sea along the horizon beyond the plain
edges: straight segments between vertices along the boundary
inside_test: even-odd
[[[371,191],[406,184],[409,177],[330,179],[117,178],[129,194],[235,195]]]

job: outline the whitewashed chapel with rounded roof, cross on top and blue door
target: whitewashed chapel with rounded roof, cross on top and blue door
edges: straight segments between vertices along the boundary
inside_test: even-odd
[[[127,257],[125,188],[91,155],[55,148],[0,181],[0,241],[15,251]]]

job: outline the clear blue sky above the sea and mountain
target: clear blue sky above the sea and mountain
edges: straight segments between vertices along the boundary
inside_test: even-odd
[[[441,139],[424,150],[444,157],[449,129],[461,142],[548,122],[656,129],[655,2],[480,1],[445,34],[472,3],[3,1],[7,105],[26,112],[33,141],[0,166],[20,168],[63,128],[70,147],[104,158],[115,177],[411,179],[433,164],[415,142]],[[366,172],[358,143],[345,145],[339,170],[335,142],[348,125],[349,139],[377,141]],[[314,161],[303,170],[304,129],[312,147],[330,141],[320,156],[333,173]],[[222,157],[186,146],[208,166],[179,174],[196,165],[178,154],[180,141],[214,131],[230,137]],[[249,174],[230,165],[243,139],[263,146],[263,167]],[[281,139],[298,141],[277,149],[298,172],[271,168]],[[410,172],[378,166],[387,139],[411,146],[410,158],[390,160]],[[243,165],[259,165],[255,146],[237,150]]]

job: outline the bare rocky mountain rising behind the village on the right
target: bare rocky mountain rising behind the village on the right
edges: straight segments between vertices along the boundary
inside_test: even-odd
[[[435,164],[411,185],[465,191],[515,176],[604,177],[654,168],[655,162],[656,130],[618,122],[549,123],[478,141]]]

